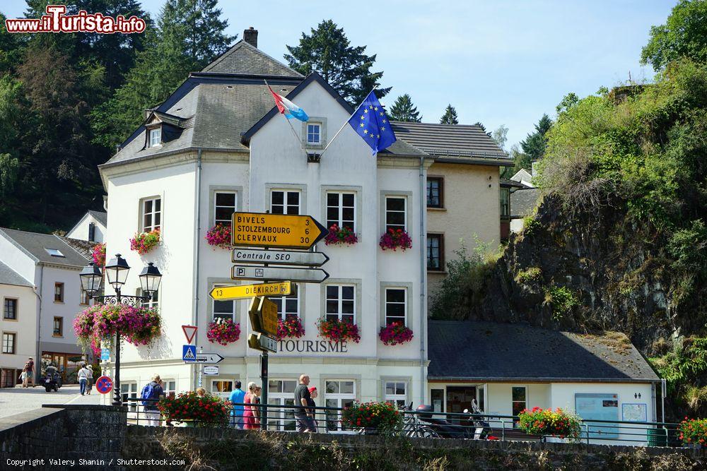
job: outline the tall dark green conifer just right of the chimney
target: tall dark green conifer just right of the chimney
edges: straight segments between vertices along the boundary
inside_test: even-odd
[[[365,54],[366,46],[351,46],[344,28],[332,20],[324,20],[312,28],[311,33],[302,33],[297,46],[287,46],[285,54],[288,64],[299,73],[312,72],[320,75],[351,105],[358,105],[373,88],[378,98],[384,97],[390,88],[379,88],[381,72],[373,72],[375,54]]]

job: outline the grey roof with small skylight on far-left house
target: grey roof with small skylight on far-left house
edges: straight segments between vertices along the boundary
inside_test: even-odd
[[[36,261],[53,263],[54,265],[83,267],[88,264],[88,259],[70,246],[64,239],[54,234],[38,234],[15,229],[0,228],[0,236],[5,236],[13,244],[24,249]],[[49,255],[46,249],[57,249],[64,256]]]

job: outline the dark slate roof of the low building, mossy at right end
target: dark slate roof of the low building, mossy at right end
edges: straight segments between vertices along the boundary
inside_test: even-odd
[[[626,335],[581,335],[522,324],[429,321],[428,379],[658,381]],[[641,381],[638,381],[641,380]]]

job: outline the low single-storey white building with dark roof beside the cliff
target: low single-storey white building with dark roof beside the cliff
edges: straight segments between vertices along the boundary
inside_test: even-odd
[[[438,412],[471,410],[501,417],[513,429],[524,409],[556,408],[583,419],[656,422],[660,378],[626,335],[581,335],[522,324],[429,321],[428,388]],[[597,423],[597,426],[600,424]],[[622,424],[590,429],[596,442],[648,442]],[[592,433],[599,431],[602,434]],[[638,435],[634,435],[638,434]],[[642,435],[641,435],[642,434]]]

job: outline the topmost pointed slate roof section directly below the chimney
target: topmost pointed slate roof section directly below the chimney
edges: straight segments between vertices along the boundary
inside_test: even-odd
[[[259,76],[304,78],[298,71],[265,54],[252,44],[240,40],[228,51],[204,67],[202,72],[238,73]]]

